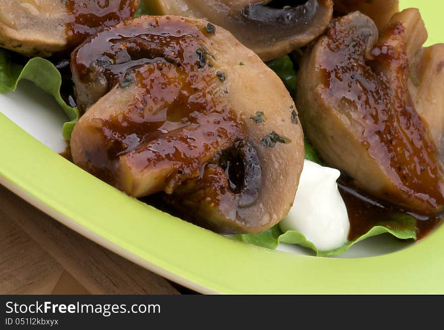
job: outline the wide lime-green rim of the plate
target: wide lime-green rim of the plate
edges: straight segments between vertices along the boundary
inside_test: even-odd
[[[420,6],[441,37],[444,2]],[[29,109],[32,111],[32,109]],[[101,182],[0,114],[0,183],[118,254],[202,293],[444,294],[444,226],[377,257],[316,258],[236,242],[162,213]]]

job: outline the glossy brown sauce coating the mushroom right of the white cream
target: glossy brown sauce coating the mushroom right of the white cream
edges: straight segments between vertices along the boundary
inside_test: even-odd
[[[401,23],[381,36],[369,63],[362,57],[367,38],[352,36],[340,24],[334,21],[327,33],[330,52],[322,69],[328,98],[350,119],[351,129],[393,184],[429,209],[439,209],[444,205],[443,172],[408,92]],[[397,196],[385,195],[397,201]]]

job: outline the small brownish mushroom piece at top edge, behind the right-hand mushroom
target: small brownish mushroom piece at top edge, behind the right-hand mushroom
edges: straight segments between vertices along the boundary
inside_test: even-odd
[[[375,22],[382,31],[399,12],[399,0],[334,0],[335,11],[341,15],[359,11]]]

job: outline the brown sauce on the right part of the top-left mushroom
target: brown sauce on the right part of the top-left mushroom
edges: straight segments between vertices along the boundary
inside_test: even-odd
[[[133,17],[140,0],[66,0],[68,11],[66,35],[70,48],[103,27],[114,26]]]

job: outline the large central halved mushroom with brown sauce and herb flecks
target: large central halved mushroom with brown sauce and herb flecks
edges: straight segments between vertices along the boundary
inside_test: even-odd
[[[296,108],[228,31],[142,16],[81,44],[71,68],[87,109],[77,165],[134,197],[165,192],[219,232],[259,232],[288,213],[304,158]]]

